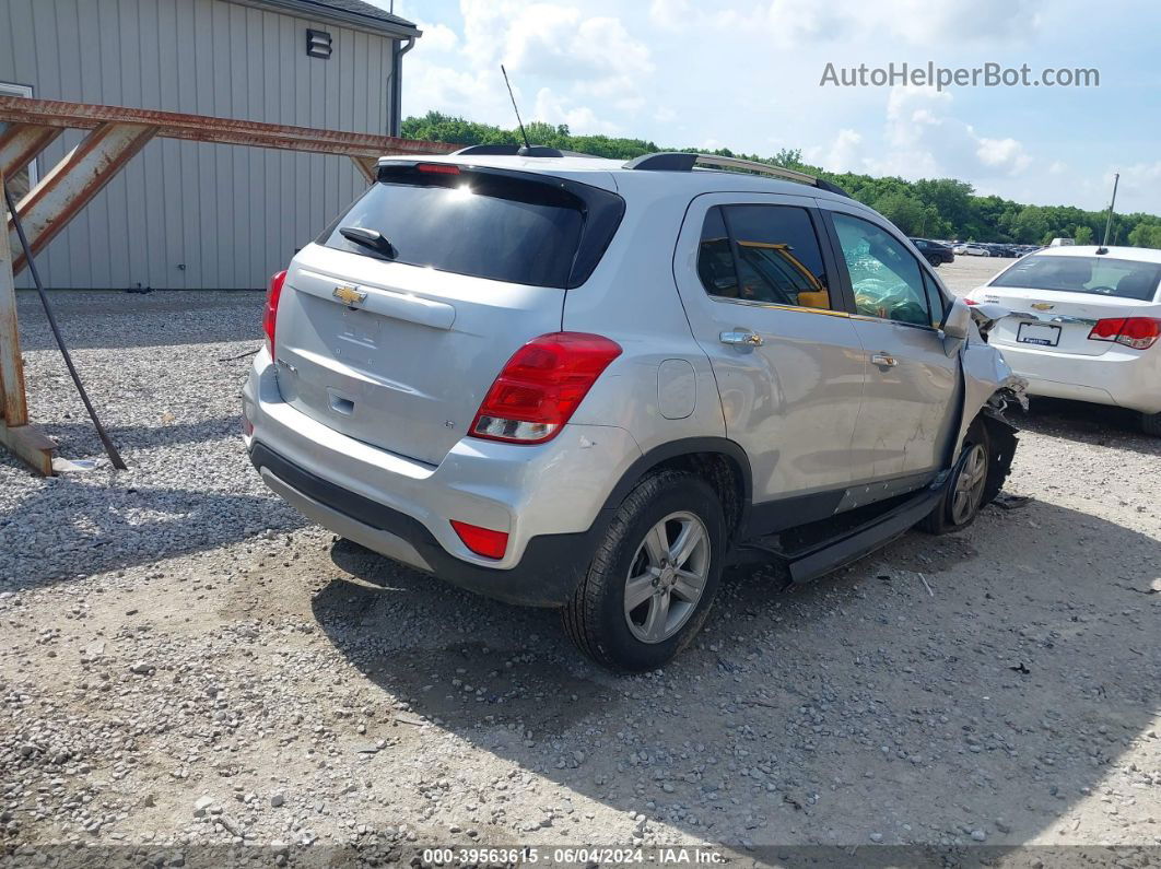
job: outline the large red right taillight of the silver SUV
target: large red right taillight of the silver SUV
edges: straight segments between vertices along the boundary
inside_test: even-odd
[[[554,332],[517,350],[488,390],[470,434],[543,443],[569,421],[620,345],[583,332]]]

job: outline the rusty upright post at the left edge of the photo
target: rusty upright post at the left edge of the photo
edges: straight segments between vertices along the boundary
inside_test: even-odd
[[[3,173],[0,172],[2,189]],[[2,201],[0,213],[7,217]],[[28,462],[38,473],[52,476],[56,444],[28,422],[24,362],[20,355],[20,331],[16,326],[16,287],[7,232],[0,232],[0,444]]]

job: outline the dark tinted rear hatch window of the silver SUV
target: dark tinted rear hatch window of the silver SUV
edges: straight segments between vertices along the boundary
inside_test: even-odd
[[[534,173],[390,162],[319,237],[326,247],[507,283],[567,289],[589,277],[625,213],[620,196]],[[373,230],[390,247],[352,241]]]

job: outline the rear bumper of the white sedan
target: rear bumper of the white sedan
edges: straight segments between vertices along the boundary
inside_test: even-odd
[[[1161,348],[1110,347],[1099,356],[994,345],[1012,370],[1027,379],[1031,396],[1161,411]]]

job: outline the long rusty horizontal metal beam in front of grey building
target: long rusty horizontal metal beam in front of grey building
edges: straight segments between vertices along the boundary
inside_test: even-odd
[[[211,142],[219,145],[253,145],[284,151],[378,158],[383,154],[446,154],[457,145],[446,142],[402,139],[366,132],[317,130],[310,126],[266,124],[257,121],[185,115],[176,111],[129,109],[121,106],[92,106],[58,100],[29,100],[0,96],[0,121],[74,130],[92,130],[101,124],[144,124],[157,129],[161,138]]]

